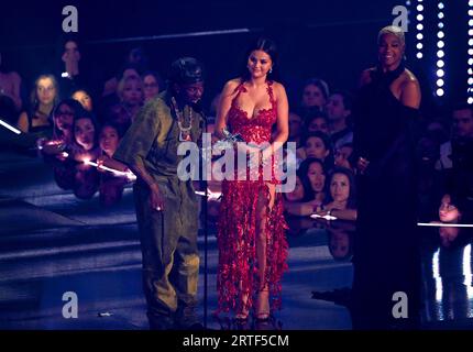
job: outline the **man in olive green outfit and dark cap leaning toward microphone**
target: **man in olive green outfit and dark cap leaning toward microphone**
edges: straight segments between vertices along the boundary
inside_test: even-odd
[[[143,254],[143,285],[151,329],[199,329],[197,280],[198,206],[191,180],[177,166],[183,141],[199,142],[204,92],[201,65],[191,57],[173,63],[168,88],[147,102],[113,157],[138,176],[136,220]]]

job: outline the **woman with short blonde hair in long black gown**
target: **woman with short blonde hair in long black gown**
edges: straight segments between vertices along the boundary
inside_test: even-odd
[[[378,34],[378,65],[363,72],[354,107],[358,222],[354,248],[353,328],[415,328],[418,317],[415,125],[417,78],[404,67],[400,28]],[[408,298],[408,318],[393,295]]]

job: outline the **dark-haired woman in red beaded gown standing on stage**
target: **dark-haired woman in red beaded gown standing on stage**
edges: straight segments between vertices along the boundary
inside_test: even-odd
[[[274,43],[261,38],[249,51],[241,77],[228,81],[218,110],[216,133],[223,129],[240,133],[246,143],[267,147],[263,160],[275,155],[288,138],[288,102],[283,85],[271,79],[276,61]],[[274,139],[272,129],[276,128]],[[237,158],[237,157],[235,157]],[[270,158],[271,160],[271,158]],[[272,169],[276,169],[271,160]],[[271,179],[223,180],[219,219],[219,268],[217,314],[232,310],[245,320],[254,309],[257,320],[270,318],[280,307],[280,278],[287,268],[287,229],[283,216],[280,184],[274,173]]]

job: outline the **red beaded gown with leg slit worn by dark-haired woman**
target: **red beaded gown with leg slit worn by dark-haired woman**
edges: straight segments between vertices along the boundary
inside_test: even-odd
[[[251,119],[237,105],[237,98],[239,95],[245,94],[246,89],[242,84],[235,89],[237,95],[232,100],[227,123],[231,132],[240,133],[246,143],[271,142],[272,128],[277,118],[277,107],[272,86],[273,81],[267,81],[267,94],[272,107],[260,110]],[[263,180],[262,168],[260,168],[257,180],[250,180],[250,178],[240,180],[235,176],[234,180],[226,179],[222,182],[222,202],[218,227],[217,289],[219,305],[216,314],[228,312],[229,310],[250,310],[255,300],[255,294],[262,287],[270,289],[272,310],[280,308],[280,279],[283,272],[287,270],[288,245],[285,237],[287,224],[284,219],[280,193],[275,193],[274,205],[268,207],[271,198],[268,184],[280,184],[275,177],[277,167],[274,161],[272,161],[272,169],[273,174],[270,180]],[[258,226],[256,213],[261,209],[261,199],[265,201],[264,205],[266,206],[264,283],[261,283],[260,279],[255,243],[256,227]],[[241,299],[242,292],[249,294],[244,307]]]

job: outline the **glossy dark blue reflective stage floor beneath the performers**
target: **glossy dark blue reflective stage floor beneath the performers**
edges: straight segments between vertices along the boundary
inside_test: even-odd
[[[0,329],[147,329],[130,187],[119,205],[103,208],[97,196],[80,200],[58,188],[42,160],[2,153],[0,209]],[[350,235],[343,228],[328,232],[308,219],[290,219],[289,224],[283,309],[271,323],[249,322],[244,328],[351,329],[344,306],[353,278],[350,255],[344,255]],[[218,252],[215,228],[209,232],[208,327],[232,329],[211,315]],[[422,245],[424,327],[470,328],[471,238],[454,248],[437,242],[432,235]],[[204,317],[202,232],[199,249]],[[77,294],[77,319],[63,317],[63,295],[68,292]],[[320,299],[312,299],[312,292]]]

